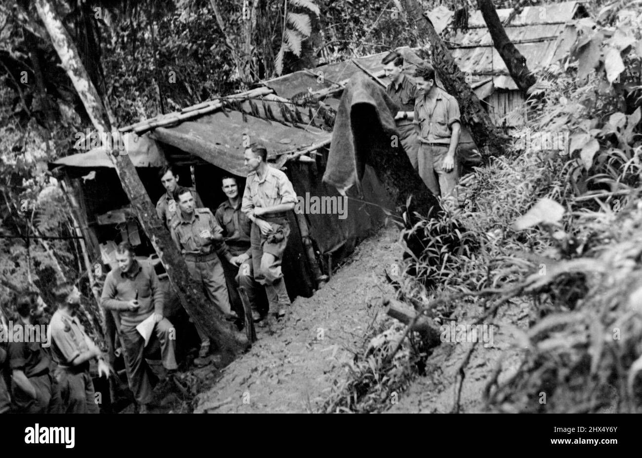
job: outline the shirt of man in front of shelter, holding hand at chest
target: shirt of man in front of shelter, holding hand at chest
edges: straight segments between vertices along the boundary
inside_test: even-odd
[[[231,259],[232,256],[224,242],[216,242],[200,236],[204,230],[209,230],[214,237],[223,235],[223,229],[216,223],[209,208],[195,208],[189,221],[183,219],[182,212],[178,211],[171,221],[171,238],[180,250],[193,254],[208,254],[216,250],[219,255]]]

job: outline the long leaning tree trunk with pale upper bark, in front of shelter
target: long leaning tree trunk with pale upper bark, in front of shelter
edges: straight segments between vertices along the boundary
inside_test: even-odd
[[[96,92],[96,88],[89,80],[87,71],[85,71],[82,62],[80,62],[78,51],[60,21],[55,8],[49,3],[49,0],[37,0],[36,6],[40,19],[42,19],[49,32],[51,42],[58,56],[60,56],[62,67],[73,82],[76,91],[78,91],[92,124],[98,131],[111,132],[108,116],[98,92]],[[110,151],[110,153],[107,153],[108,157],[114,163],[132,209],[158,253],[172,286],[178,292],[182,305],[189,312],[195,323],[199,323],[216,343],[216,346],[221,349],[224,353],[223,359],[226,362],[231,360],[247,348],[247,338],[232,328],[232,324],[227,323],[220,313],[215,312],[215,314],[210,312],[208,307],[202,307],[202,304],[207,303],[208,299],[202,292],[200,285],[191,280],[182,255],[173,244],[169,232],[156,216],[155,207],[143,187],[134,164],[126,155],[114,155],[114,153],[116,153],[115,150]]]

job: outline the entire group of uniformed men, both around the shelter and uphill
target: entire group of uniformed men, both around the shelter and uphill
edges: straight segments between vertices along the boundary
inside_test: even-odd
[[[442,196],[446,205],[456,205],[460,112],[455,98],[437,87],[430,65],[419,65],[412,81],[402,71],[404,60],[399,53],[392,51],[382,63],[391,80],[386,93],[399,106],[394,118],[410,163],[435,196]],[[266,162],[264,146],[251,144],[244,159],[248,176],[243,195],[236,178],[222,178],[227,200],[215,214],[204,207],[194,188],[178,184],[179,176],[171,166],[159,173],[166,193],[156,210],[184,256],[189,274],[207,296],[202,307],[216,307],[223,318],[236,321],[238,315],[230,304],[241,303],[243,294],[253,321],[273,330],[290,305],[281,262],[290,235],[288,212],[297,196],[286,174]],[[116,262],[105,280],[101,306],[116,318],[129,386],[139,412],[145,412],[152,403],[154,377],[146,356],[160,349],[162,365],[171,376],[178,368],[175,330],[163,315],[164,293],[154,267],[137,260],[128,242],[117,246]],[[257,306],[262,290],[268,310]],[[0,346],[0,368],[4,365],[5,375],[11,375],[0,377],[0,412],[98,411],[90,362],[96,361],[99,375],[108,375],[110,367],[76,316],[78,289],[63,284],[54,295],[58,310],[49,323],[51,351],[28,339]],[[42,309],[37,295],[19,298],[19,325],[35,323]],[[146,320],[153,321],[148,340],[137,330]],[[210,341],[198,321],[195,326],[201,341],[198,359],[205,360],[211,353]]]

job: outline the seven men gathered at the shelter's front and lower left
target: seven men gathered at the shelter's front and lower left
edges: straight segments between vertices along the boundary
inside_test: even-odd
[[[224,177],[221,188],[227,200],[216,214],[203,206],[195,189],[178,185],[178,174],[171,167],[160,171],[167,192],[156,208],[190,275],[204,290],[208,301],[202,307],[216,307],[223,318],[236,321],[230,297],[236,303],[242,291],[254,322],[272,332],[291,305],[281,262],[290,235],[288,212],[297,196],[286,174],[267,164],[264,146],[251,144],[244,158],[248,176],[243,196],[236,178]],[[147,412],[153,403],[155,375],[146,358],[160,350],[166,377],[172,377],[178,369],[176,331],[163,314],[164,293],[152,264],[137,259],[126,241],[116,248],[116,264],[105,278],[101,306],[115,318],[130,389],[138,411]],[[261,289],[268,310],[257,305]],[[58,285],[54,296],[58,310],[49,322],[51,348],[34,335],[0,346],[0,369],[6,368],[3,375],[10,376],[0,377],[0,413],[98,412],[90,363],[96,362],[101,377],[108,376],[110,366],[78,320],[78,289]],[[18,326],[33,333],[29,325],[42,317],[43,310],[39,295],[25,294],[17,301]],[[201,339],[198,359],[207,362],[210,341],[194,321]],[[152,323],[147,339],[139,331],[144,322]],[[6,328],[6,323],[0,327]]]

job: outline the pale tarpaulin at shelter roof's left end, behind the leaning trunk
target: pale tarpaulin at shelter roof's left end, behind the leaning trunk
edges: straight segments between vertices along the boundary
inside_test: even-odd
[[[123,134],[123,143],[125,144],[125,152],[135,167],[162,166],[163,159],[160,157],[156,143],[150,141],[147,134],[138,137],[131,133],[125,133]],[[67,165],[68,167],[114,168],[114,164],[110,158],[107,157],[107,154],[107,149],[94,148],[91,151],[87,151],[87,153],[78,153],[62,157],[49,163],[49,167],[55,168],[60,165]]]

